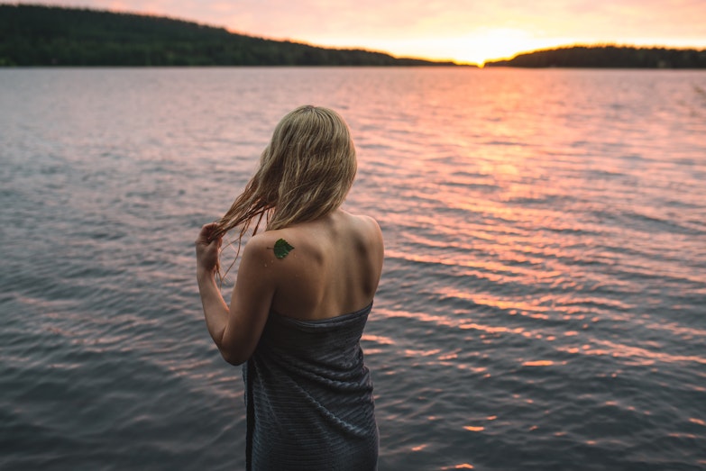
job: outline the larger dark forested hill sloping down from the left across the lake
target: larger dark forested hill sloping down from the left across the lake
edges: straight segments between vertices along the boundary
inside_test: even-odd
[[[164,17],[0,5],[0,66],[437,65],[455,64],[269,41]]]

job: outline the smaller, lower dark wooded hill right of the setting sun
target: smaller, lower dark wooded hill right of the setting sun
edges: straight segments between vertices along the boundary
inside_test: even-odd
[[[509,60],[486,62],[485,67],[706,68],[706,50],[574,46],[527,52]]]

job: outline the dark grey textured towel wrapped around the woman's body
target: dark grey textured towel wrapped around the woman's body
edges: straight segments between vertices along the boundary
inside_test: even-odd
[[[371,307],[321,321],[270,312],[243,366],[254,471],[376,469],[378,428],[360,346]]]

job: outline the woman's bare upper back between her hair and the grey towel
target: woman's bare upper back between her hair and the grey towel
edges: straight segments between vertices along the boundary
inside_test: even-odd
[[[275,258],[275,241],[294,247]],[[271,309],[302,320],[327,319],[372,302],[382,270],[383,246],[377,222],[337,210],[314,222],[265,231],[248,243],[269,249],[276,267]]]

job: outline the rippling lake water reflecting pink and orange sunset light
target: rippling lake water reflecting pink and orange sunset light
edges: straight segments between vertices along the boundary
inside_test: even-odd
[[[193,240],[299,104],[385,238],[381,471],[706,468],[706,71],[511,68],[0,69],[0,468],[243,468]]]

